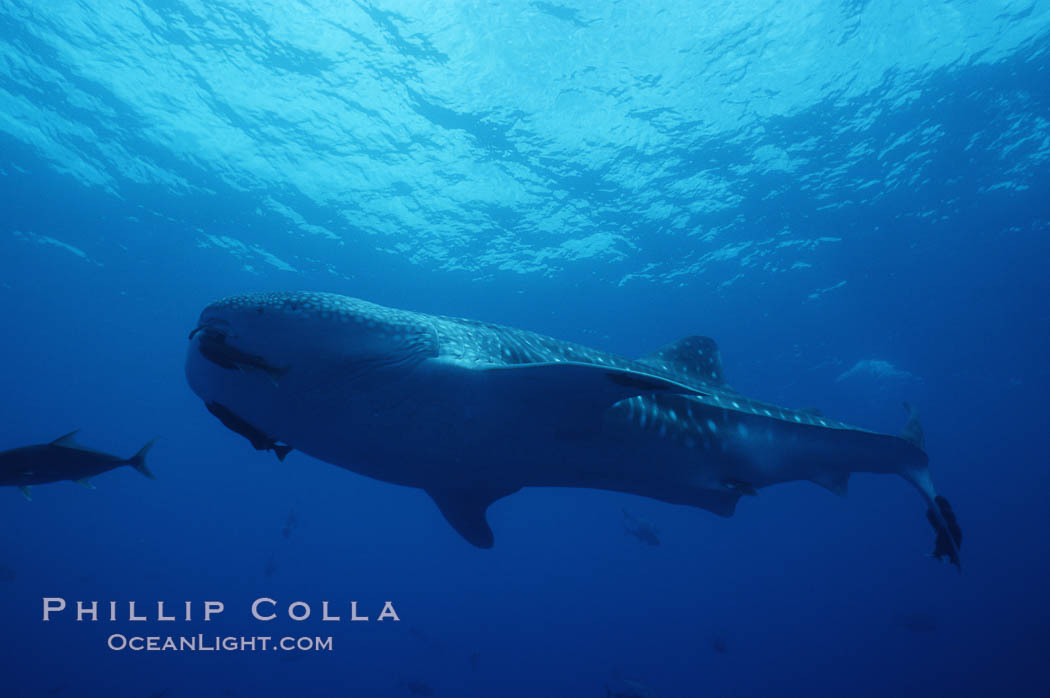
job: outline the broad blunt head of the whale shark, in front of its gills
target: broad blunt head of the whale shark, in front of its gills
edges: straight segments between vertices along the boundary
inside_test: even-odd
[[[420,317],[326,293],[224,298],[190,333],[186,377],[206,403],[237,415],[335,389],[352,399],[437,354]]]

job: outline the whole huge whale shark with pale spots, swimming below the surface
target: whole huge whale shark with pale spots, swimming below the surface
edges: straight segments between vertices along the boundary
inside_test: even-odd
[[[256,447],[280,442],[422,488],[482,548],[494,542],[486,509],[522,487],[630,492],[730,516],[762,487],[808,480],[845,494],[852,472],[884,472],[915,485],[933,554],[959,565],[959,525],[933,490],[914,413],[897,437],[751,400],[726,383],[706,337],[629,360],[345,296],[268,293],[204,310],[186,376]]]

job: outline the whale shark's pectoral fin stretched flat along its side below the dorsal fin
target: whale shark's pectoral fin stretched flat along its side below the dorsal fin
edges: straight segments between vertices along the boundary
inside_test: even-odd
[[[707,395],[700,389],[652,374],[592,363],[517,363],[482,372],[505,395],[560,407],[605,408],[639,395]]]

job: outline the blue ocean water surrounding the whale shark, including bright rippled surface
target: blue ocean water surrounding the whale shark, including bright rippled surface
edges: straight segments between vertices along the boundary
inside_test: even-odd
[[[1048,46],[1031,0],[0,0],[0,450],[161,437],[155,482],[0,489],[0,693],[1050,694]],[[201,309],[276,290],[631,357],[705,334],[744,395],[890,433],[908,400],[963,573],[878,475],[729,520],[526,489],[476,549],[188,389]],[[262,596],[314,615],[255,621]],[[44,597],[194,620],[42,622]]]

